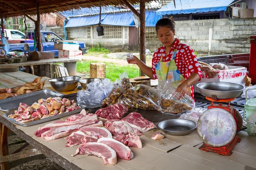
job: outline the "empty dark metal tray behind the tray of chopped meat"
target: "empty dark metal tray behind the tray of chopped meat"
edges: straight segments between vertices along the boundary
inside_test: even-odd
[[[47,99],[48,97],[62,97],[63,94],[50,90],[40,90],[35,91],[29,94],[23,94],[20,96],[10,97],[7,99],[0,100],[0,110],[7,112],[12,109],[17,109],[20,105],[20,102],[26,103],[27,105],[32,105],[34,102],[37,102],[39,99]]]

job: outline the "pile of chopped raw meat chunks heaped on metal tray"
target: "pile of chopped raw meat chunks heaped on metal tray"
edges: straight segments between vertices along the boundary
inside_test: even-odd
[[[70,112],[79,109],[75,100],[61,99],[60,97],[49,97],[47,99],[39,99],[38,102],[29,106],[25,103],[20,103],[20,106],[15,114],[8,117],[15,119],[19,123],[28,123],[39,119],[44,119],[49,116]]]

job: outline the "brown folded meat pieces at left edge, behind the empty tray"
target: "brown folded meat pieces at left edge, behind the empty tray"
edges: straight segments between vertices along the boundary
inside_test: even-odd
[[[42,77],[34,79],[32,82],[26,83],[23,86],[15,88],[0,88],[0,99],[8,97],[19,96],[21,94],[28,94],[35,91],[42,90],[44,87],[44,81],[40,83]]]

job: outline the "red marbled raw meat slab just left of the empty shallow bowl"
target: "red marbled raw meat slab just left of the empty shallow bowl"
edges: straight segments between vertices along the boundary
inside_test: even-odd
[[[156,128],[153,122],[149,122],[147,119],[143,118],[140,113],[137,112],[132,112],[121,120],[128,122],[131,127],[139,129],[140,132],[146,132],[150,129]]]

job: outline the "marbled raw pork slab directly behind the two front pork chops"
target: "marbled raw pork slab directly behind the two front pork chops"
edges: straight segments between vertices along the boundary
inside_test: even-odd
[[[111,133],[104,127],[82,127],[67,138],[68,144],[66,144],[66,147],[97,142],[97,139],[102,137],[113,138]]]

